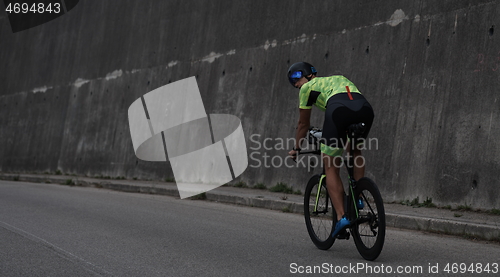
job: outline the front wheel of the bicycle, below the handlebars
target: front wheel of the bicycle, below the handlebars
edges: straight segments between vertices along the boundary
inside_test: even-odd
[[[307,183],[304,194],[304,218],[306,220],[307,232],[313,243],[319,249],[327,250],[335,242],[335,239],[332,238],[332,233],[337,218],[335,209],[328,196],[325,179],[323,179],[322,184],[319,183],[320,179],[320,175],[314,175]],[[315,210],[316,198],[318,199],[318,205]]]

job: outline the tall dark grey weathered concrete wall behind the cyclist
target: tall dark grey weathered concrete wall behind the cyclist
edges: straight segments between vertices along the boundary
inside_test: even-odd
[[[492,0],[80,1],[13,34],[0,13],[0,170],[172,177],[135,158],[127,109],[196,76],[207,113],[242,120],[240,179],[303,190],[312,172],[264,166],[287,150],[255,148],[294,136],[285,74],[305,60],[372,103],[367,175],[386,201],[500,208],[499,14]]]

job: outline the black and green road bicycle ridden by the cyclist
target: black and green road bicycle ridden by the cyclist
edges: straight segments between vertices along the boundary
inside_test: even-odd
[[[363,123],[349,126],[348,138],[350,152],[359,137],[364,132]],[[319,142],[321,129],[311,128],[309,130],[309,143],[315,145],[313,151],[301,151],[299,154],[321,154]],[[336,238],[332,237],[337,215],[326,188],[325,170],[323,173],[312,176],[304,193],[304,217],[307,231],[311,240],[317,248],[328,250],[332,247],[335,239],[349,239],[352,235],[354,243],[361,256],[373,261],[381,253],[385,239],[385,211],[382,196],[377,185],[371,179],[363,177],[354,180],[353,158],[347,155],[345,162],[348,173],[348,192],[344,195],[346,216],[351,222],[348,231],[341,232]],[[363,205],[358,204],[362,200]]]

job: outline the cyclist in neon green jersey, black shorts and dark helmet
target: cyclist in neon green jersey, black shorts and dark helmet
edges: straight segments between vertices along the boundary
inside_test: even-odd
[[[312,106],[315,105],[325,112],[323,123],[323,137],[321,155],[326,174],[326,187],[337,213],[337,224],[332,236],[339,238],[345,234],[350,225],[344,211],[344,186],[339,172],[342,165],[342,153],[349,149],[347,142],[347,128],[351,124],[364,122],[366,139],[373,123],[373,109],[358,88],[342,75],[330,77],[316,77],[316,69],[309,63],[294,63],[288,69],[288,80],[292,86],[299,88],[299,121],[295,136],[295,147],[288,154],[296,158],[300,151],[300,143],[306,137],[310,126]],[[355,147],[354,161],[361,156],[362,144]],[[364,176],[364,162],[354,163],[354,178]],[[363,208],[360,200],[358,208]],[[342,233],[341,233],[342,232]]]

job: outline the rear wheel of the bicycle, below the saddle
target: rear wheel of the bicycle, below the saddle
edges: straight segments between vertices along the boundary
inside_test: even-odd
[[[375,260],[384,247],[385,210],[377,185],[369,178],[361,178],[356,183],[356,201],[362,197],[364,208],[359,210],[356,223],[351,226],[351,234],[359,254],[369,261]],[[354,207],[351,207],[355,214]]]

